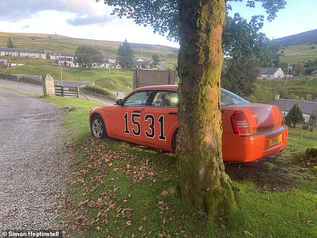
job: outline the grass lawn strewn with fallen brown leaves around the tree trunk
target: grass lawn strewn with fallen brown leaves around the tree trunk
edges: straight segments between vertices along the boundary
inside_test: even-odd
[[[316,146],[316,131],[304,131],[300,140],[301,130],[290,128],[282,153],[256,163],[225,163],[239,189],[238,208],[208,224],[203,212],[193,212],[185,200],[173,195],[174,154],[93,139],[87,116],[98,103],[45,99],[61,108],[80,108],[66,112],[65,122],[72,128],[68,139],[73,139],[69,149],[74,159],[64,223],[73,236],[79,232],[86,237],[317,236],[316,171],[300,165],[305,148]]]

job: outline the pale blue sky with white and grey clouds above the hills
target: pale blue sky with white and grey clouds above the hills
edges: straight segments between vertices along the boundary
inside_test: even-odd
[[[254,8],[243,2],[229,2],[234,12],[249,20],[265,10],[257,3]],[[160,44],[179,47],[151,27],[139,26],[131,19],[110,15],[112,7],[95,0],[0,0],[0,31],[59,34],[68,37]],[[317,28],[314,19],[317,0],[287,0],[277,17],[264,21],[260,30],[270,39],[280,38]]]

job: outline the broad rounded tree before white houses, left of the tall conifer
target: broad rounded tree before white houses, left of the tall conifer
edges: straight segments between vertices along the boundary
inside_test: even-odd
[[[102,63],[103,56],[101,52],[91,45],[82,45],[76,49],[74,56],[74,63],[78,63],[80,67],[89,70],[91,69],[92,63]]]

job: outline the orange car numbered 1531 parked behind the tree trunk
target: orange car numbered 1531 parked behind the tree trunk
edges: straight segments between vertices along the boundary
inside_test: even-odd
[[[175,151],[177,85],[140,87],[114,105],[89,112],[91,133]],[[250,103],[221,89],[222,155],[225,161],[252,161],[281,151],[288,128],[275,105]]]

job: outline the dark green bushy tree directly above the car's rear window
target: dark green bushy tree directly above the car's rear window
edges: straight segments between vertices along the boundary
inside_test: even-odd
[[[221,87],[242,97],[249,96],[254,90],[258,73],[259,67],[255,60],[231,60],[230,65],[222,67]]]

